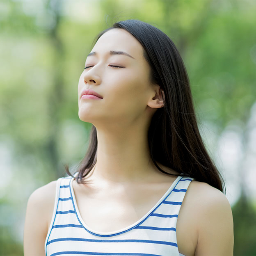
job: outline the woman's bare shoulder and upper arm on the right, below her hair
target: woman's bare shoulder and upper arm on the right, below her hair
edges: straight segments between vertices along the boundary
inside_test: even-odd
[[[183,204],[180,217],[193,222],[193,255],[233,255],[233,216],[226,196],[207,183],[192,181]]]

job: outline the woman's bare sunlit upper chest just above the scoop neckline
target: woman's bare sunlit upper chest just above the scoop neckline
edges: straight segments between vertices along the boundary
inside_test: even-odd
[[[78,211],[89,229],[114,232],[139,222],[159,203],[168,187],[163,190],[113,190],[97,197],[75,193]]]

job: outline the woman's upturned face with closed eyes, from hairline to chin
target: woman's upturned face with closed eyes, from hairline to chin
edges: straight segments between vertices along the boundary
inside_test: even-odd
[[[109,30],[98,39],[91,53],[78,83],[78,116],[82,121],[95,126],[108,122],[128,125],[152,110],[148,106],[154,94],[150,67],[135,37],[123,29]],[[102,99],[81,98],[85,89],[96,91]]]

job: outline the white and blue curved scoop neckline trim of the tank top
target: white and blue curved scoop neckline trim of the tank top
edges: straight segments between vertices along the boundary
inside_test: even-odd
[[[165,199],[169,196],[169,194],[171,194],[172,190],[174,189],[174,187],[176,187],[176,185],[181,180],[181,178],[182,178],[182,176],[178,176],[173,181],[173,183],[171,183],[171,186],[168,188],[168,190],[165,192],[165,194],[158,200],[158,202],[142,218],[140,218],[137,222],[135,222],[135,223],[131,224],[130,226],[127,226],[123,229],[119,229],[117,231],[111,231],[111,232],[99,232],[99,231],[96,231],[94,229],[91,229],[89,226],[87,226],[87,224],[85,224],[84,220],[82,219],[82,217],[80,215],[80,211],[78,209],[78,205],[77,205],[77,202],[76,202],[76,199],[75,199],[75,193],[74,193],[74,190],[73,190],[73,184],[72,183],[73,183],[73,180],[75,179],[75,177],[71,178],[69,188],[70,188],[70,192],[71,192],[71,199],[72,199],[73,207],[74,207],[74,210],[75,210],[75,214],[76,214],[78,222],[80,222],[81,226],[93,235],[112,236],[112,235],[119,235],[119,234],[127,232],[131,229],[134,229],[136,226],[139,226],[139,224],[144,222],[162,204],[162,202],[165,201]]]

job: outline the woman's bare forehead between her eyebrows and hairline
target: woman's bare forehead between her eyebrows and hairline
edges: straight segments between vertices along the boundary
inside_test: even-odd
[[[96,42],[91,51],[100,55],[109,53],[110,50],[121,50],[135,59],[143,59],[143,47],[139,41],[124,29],[114,28],[105,32]]]

